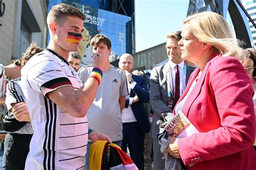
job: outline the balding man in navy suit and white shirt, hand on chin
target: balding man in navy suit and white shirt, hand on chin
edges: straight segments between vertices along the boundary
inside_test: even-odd
[[[119,68],[126,73],[129,96],[125,98],[122,110],[123,141],[122,150],[130,151],[131,159],[139,169],[144,169],[144,138],[150,131],[150,122],[144,104],[150,100],[149,88],[144,77],[132,75],[134,67],[130,54],[123,54],[119,60]]]

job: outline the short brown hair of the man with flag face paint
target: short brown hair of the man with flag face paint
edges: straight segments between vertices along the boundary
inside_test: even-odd
[[[86,19],[85,15],[76,7],[62,3],[52,6],[47,16],[47,24],[56,22],[58,25],[62,26],[67,16],[78,17],[83,20]]]

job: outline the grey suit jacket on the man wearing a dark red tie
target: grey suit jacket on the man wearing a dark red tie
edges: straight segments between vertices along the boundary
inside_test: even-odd
[[[194,67],[186,65],[186,84],[190,78],[190,74],[195,69]],[[164,65],[154,67],[150,77],[150,100],[152,110],[154,111],[152,122],[152,137],[157,138],[157,134],[160,128],[163,128],[164,117],[167,113],[172,113],[173,110],[168,107],[167,96],[167,71],[169,70],[168,63]],[[171,95],[173,95],[172,79],[171,83]]]

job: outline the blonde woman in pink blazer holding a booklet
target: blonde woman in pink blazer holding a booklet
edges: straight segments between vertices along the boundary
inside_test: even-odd
[[[166,152],[181,158],[187,169],[255,169],[254,90],[237,60],[245,51],[214,12],[186,18],[181,36],[181,58],[198,68],[174,114],[182,111],[199,133],[169,138]]]

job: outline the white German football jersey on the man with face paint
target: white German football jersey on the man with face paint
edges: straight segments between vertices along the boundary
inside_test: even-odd
[[[87,117],[72,117],[46,97],[64,86],[83,86],[61,56],[44,50],[22,69],[21,87],[28,106],[33,137],[25,169],[82,169],[88,138]]]

